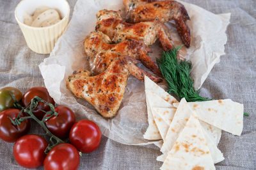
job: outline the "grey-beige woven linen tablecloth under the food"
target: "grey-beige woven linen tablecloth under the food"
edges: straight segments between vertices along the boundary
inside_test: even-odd
[[[121,1],[121,0],[120,0]],[[0,88],[13,86],[22,93],[33,86],[44,86],[38,65],[49,55],[28,49],[14,17],[19,0],[0,0]],[[200,94],[208,98],[231,98],[244,104],[243,133],[240,137],[223,132],[218,148],[225,160],[217,169],[256,169],[256,1],[186,0],[212,13],[232,13],[227,28],[228,41],[220,63],[212,69]],[[76,0],[68,0],[71,9]],[[71,10],[72,12],[73,10]],[[212,40],[214,41],[214,40]],[[31,134],[43,134],[32,122]],[[0,169],[23,169],[14,160],[13,143],[0,139]],[[154,145],[126,146],[102,137],[97,150],[83,154],[79,169],[159,169],[161,155]],[[40,167],[39,169],[43,169]]]

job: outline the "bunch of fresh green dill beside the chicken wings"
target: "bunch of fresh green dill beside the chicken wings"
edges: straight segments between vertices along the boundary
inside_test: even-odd
[[[175,93],[177,97],[186,98],[188,102],[200,102],[211,100],[200,97],[199,91],[193,87],[193,79],[190,78],[191,62],[176,58],[181,47],[173,47],[173,50],[163,52],[157,64],[164,79],[168,82],[168,93]]]

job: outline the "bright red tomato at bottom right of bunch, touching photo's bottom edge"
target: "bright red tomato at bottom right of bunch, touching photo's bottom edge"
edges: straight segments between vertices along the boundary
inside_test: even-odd
[[[80,158],[77,149],[68,143],[54,146],[44,160],[45,170],[73,170],[79,167]]]

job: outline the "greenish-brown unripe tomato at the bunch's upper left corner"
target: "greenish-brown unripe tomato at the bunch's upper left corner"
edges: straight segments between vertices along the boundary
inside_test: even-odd
[[[12,93],[17,101],[22,98],[22,93],[17,88],[6,87],[0,89],[0,112],[6,109],[13,108],[14,100],[10,93]]]

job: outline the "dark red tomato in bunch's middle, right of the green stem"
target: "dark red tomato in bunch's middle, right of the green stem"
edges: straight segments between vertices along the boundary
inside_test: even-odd
[[[68,137],[70,128],[76,122],[76,117],[71,109],[65,106],[55,107],[55,111],[58,112],[58,116],[52,116],[46,120],[46,127],[52,132],[52,134],[65,139]]]

